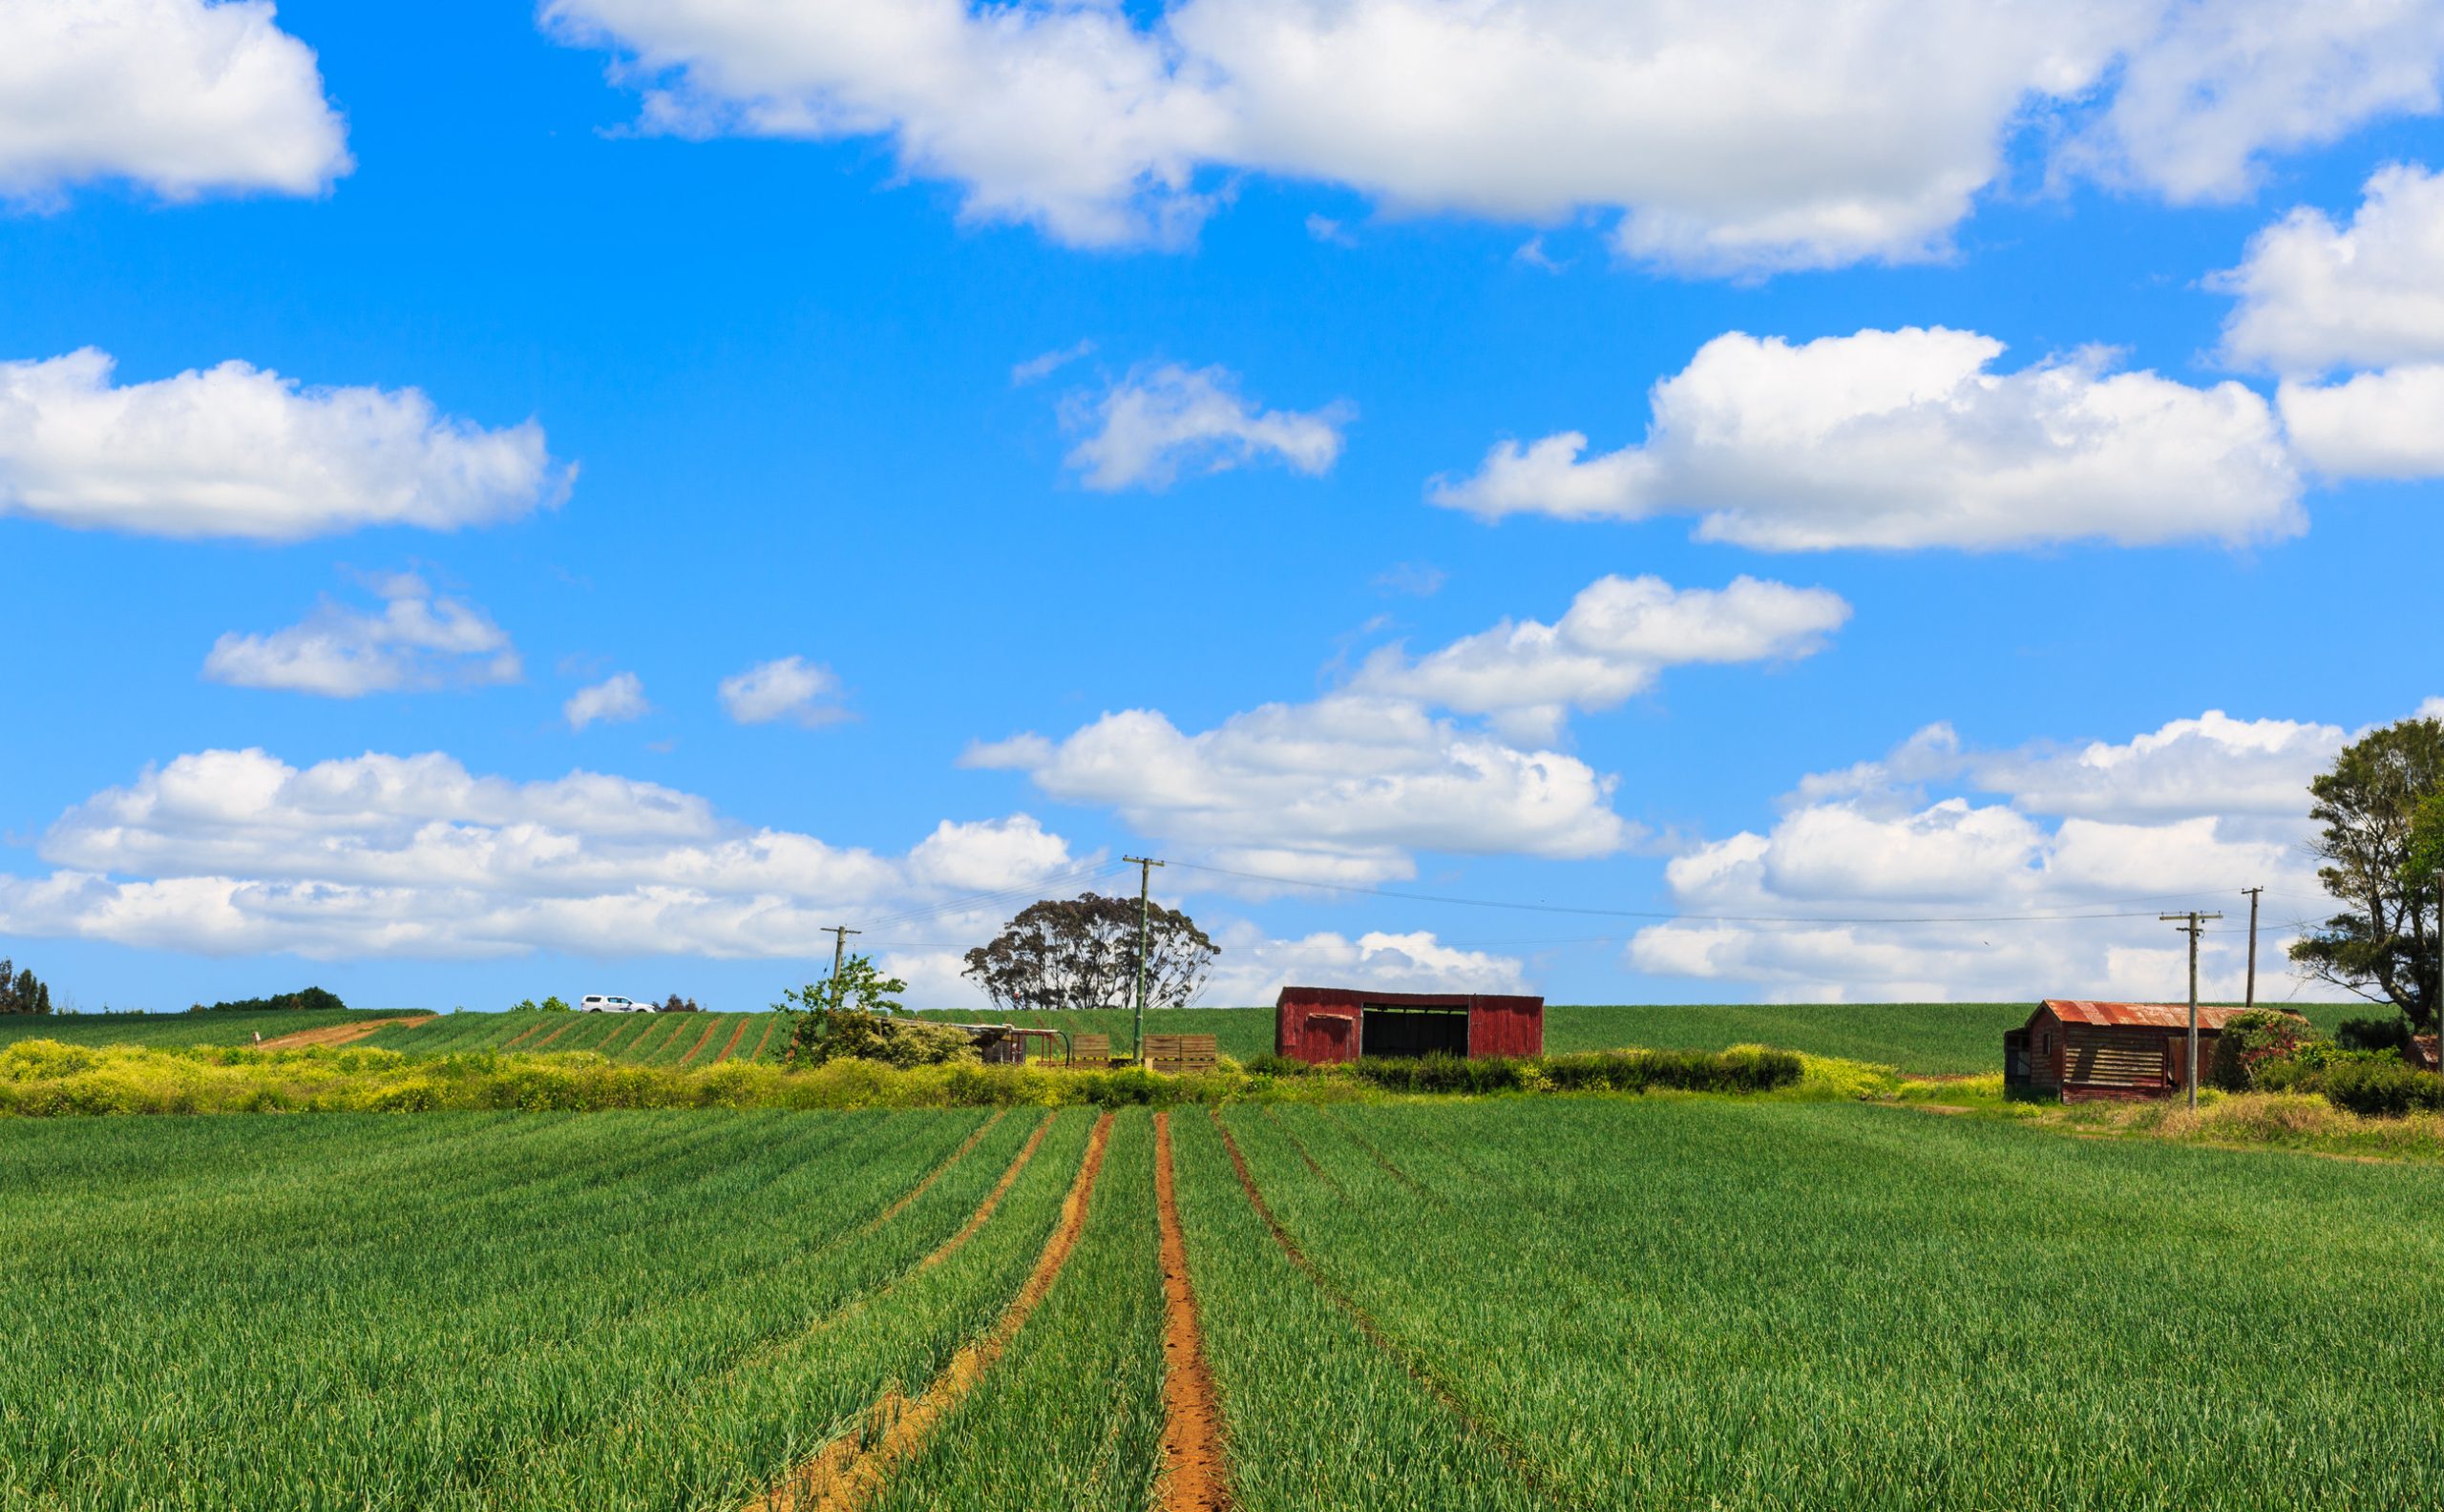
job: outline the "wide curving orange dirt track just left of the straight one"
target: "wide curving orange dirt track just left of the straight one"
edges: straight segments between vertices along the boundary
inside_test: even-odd
[[[1036,1138],[1044,1138],[1044,1129],[1036,1129]],[[1026,1326],[1029,1314],[1053,1290],[1053,1282],[1061,1280],[1061,1268],[1068,1263],[1070,1251],[1078,1248],[1078,1234],[1085,1229],[1088,1199],[1095,1194],[1095,1175],[1102,1172],[1102,1148],[1110,1138],[1112,1114],[1105,1114],[1095,1121],[1095,1133],[1085,1141],[1085,1160],[1078,1163],[1078,1180],[1070,1182],[1070,1192],[1061,1202],[1061,1221],[1053,1224],[1051,1238],[1044,1241],[1044,1253],[1026,1275],[1026,1285],[1009,1299],[1009,1307],[1002,1309],[992,1329],[963,1343],[914,1402],[907,1397],[875,1402],[868,1412],[865,1431],[833,1439],[824,1453],[814,1456],[789,1480],[775,1485],[755,1502],[755,1512],[858,1512],[890,1480],[892,1470],[924,1448],[934,1424],[948,1417],[975,1390],[985,1373],[992,1370],[992,1363],[1002,1358],[1002,1351],[1009,1348],[1009,1341],[1019,1336],[1019,1329]],[[1034,1141],[1026,1148],[1034,1150]]]

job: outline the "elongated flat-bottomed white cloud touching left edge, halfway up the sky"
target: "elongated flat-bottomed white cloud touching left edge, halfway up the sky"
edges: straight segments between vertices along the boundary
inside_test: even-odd
[[[306,388],[225,362],[112,383],[83,349],[0,362],[0,513],[139,535],[455,530],[560,503],[533,420],[484,430],[415,388]]]

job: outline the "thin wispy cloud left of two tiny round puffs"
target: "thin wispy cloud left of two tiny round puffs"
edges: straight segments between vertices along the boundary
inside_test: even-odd
[[[518,650],[481,608],[437,596],[413,572],[371,586],[379,611],[323,603],[284,630],[230,630],[213,642],[203,674],[325,699],[518,681]]]

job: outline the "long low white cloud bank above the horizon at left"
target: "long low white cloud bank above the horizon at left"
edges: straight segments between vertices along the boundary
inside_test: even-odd
[[[437,960],[809,958],[843,909],[960,909],[970,889],[1051,887],[1073,870],[1024,813],[943,823],[880,855],[738,823],[650,782],[513,782],[440,752],[310,767],[264,750],[183,755],[68,809],[39,855],[51,874],[0,877],[0,933]],[[921,928],[992,923],[968,909]]]

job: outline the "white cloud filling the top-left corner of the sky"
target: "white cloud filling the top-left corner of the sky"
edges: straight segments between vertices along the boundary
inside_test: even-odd
[[[313,49],[266,0],[0,5],[0,195],[90,181],[310,195],[349,166]]]

